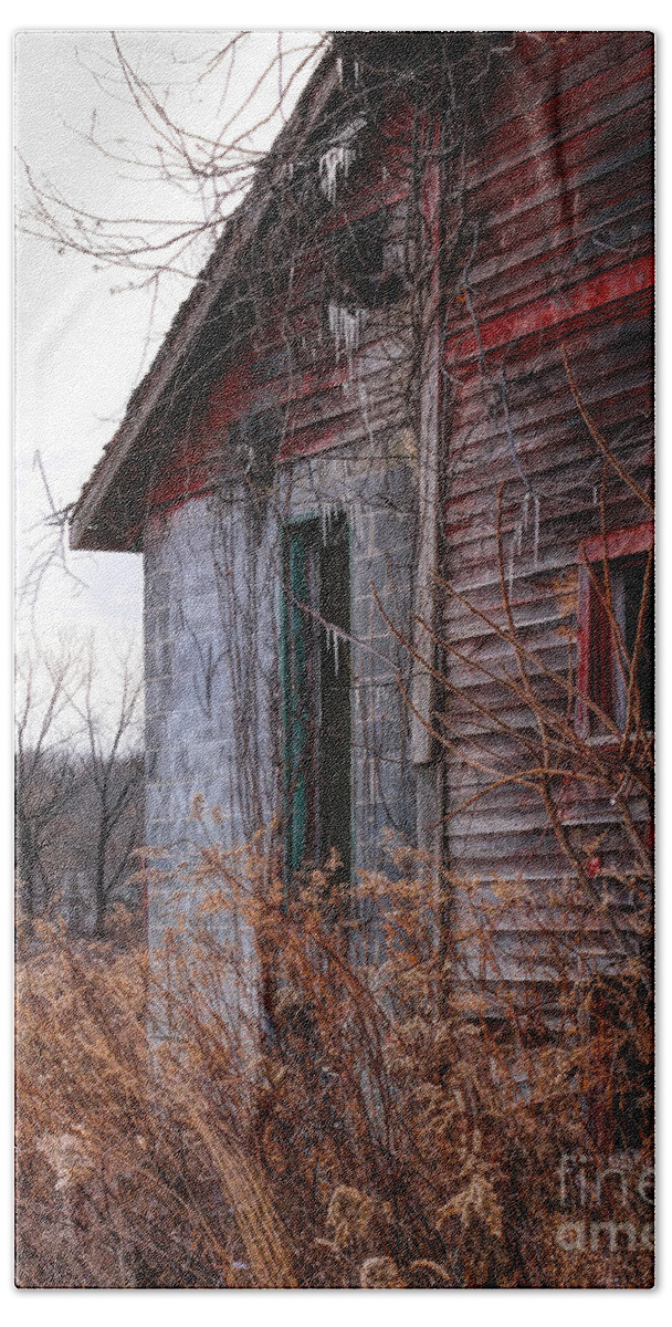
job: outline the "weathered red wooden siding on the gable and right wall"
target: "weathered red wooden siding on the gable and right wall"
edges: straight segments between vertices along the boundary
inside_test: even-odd
[[[444,414],[440,571],[463,597],[447,596],[437,624],[452,650],[437,722],[459,740],[461,756],[472,751],[496,770],[520,767],[524,743],[534,735],[529,706],[502,679],[504,670],[516,675],[510,644],[489,625],[505,625],[500,552],[521,641],[539,665],[538,695],[559,707],[561,689],[539,670],[566,677],[570,664],[577,669],[581,544],[600,532],[603,520],[614,529],[648,519],[608,466],[604,478],[563,357],[595,425],[645,487],[652,467],[652,65],[647,33],[502,35],[482,89],[482,127],[469,137],[464,182],[447,173],[444,223],[448,230],[460,223],[463,243],[452,267],[443,263],[437,289],[436,267],[432,292],[441,305],[435,364]],[[151,460],[140,456],[130,466],[138,484],[143,466],[155,466],[150,508],[211,491],[231,464],[227,449],[237,422],[273,406],[285,419],[281,466],[391,429],[415,427],[421,441],[408,391],[408,292],[367,312],[351,364],[335,353],[325,308],[323,249],[334,236],[384,207],[388,242],[404,239],[414,126],[408,105],[400,96],[396,101],[368,126],[362,162],[297,260],[290,297],[270,295],[262,325],[235,349],[221,348],[221,372],[167,450],[160,437],[146,437]],[[427,121],[423,127],[437,143],[440,117],[433,139]],[[439,184],[433,162],[424,176],[425,219]],[[437,226],[433,208],[425,230],[439,249]],[[488,779],[451,747],[445,763],[451,865],[464,874],[521,873],[537,881],[543,901],[543,889],[557,884],[567,863],[538,795],[508,783],[460,809]],[[614,865],[620,847],[604,799],[579,799],[570,782],[559,804],[567,823],[604,831],[602,859]],[[644,813],[643,803],[634,803],[635,817]],[[553,910],[547,922],[554,924]],[[502,940],[513,962],[522,943],[513,922]],[[599,928],[595,943],[607,946]]]

